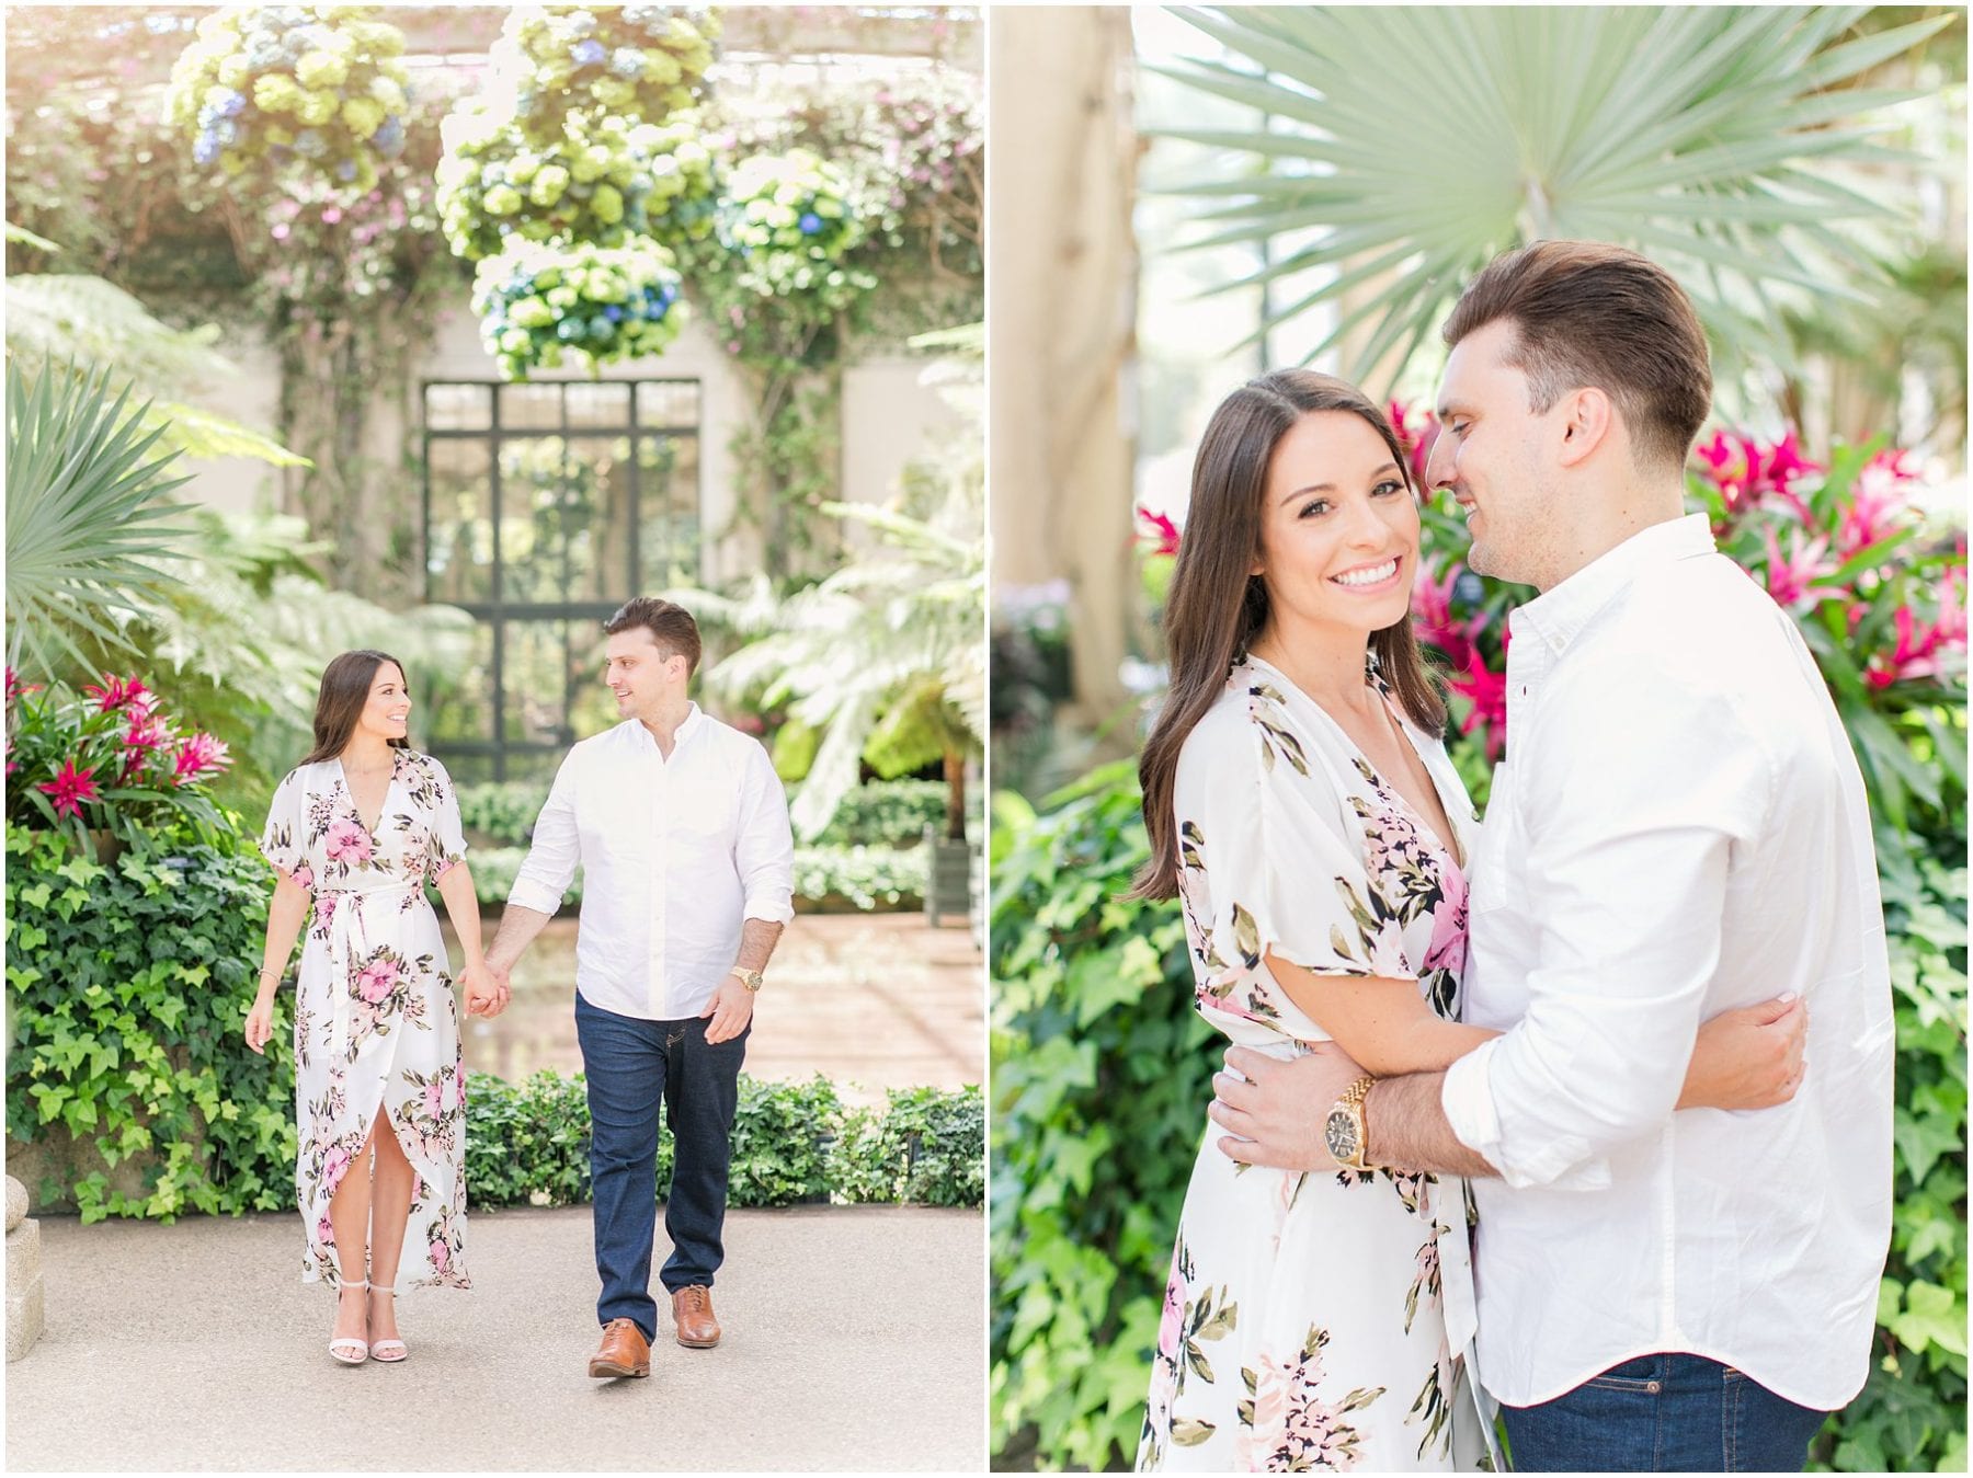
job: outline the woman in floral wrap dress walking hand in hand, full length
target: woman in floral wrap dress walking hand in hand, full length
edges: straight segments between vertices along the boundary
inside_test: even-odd
[[[335,657],[316,748],[274,789],[260,837],[280,876],[247,1044],[266,1046],[274,987],[314,902],[294,1008],[302,1281],[337,1287],[329,1354],[351,1366],[406,1354],[391,1298],[406,1237],[414,1287],[472,1287],[466,1072],[428,882],[466,955],[468,1010],[499,1004],[452,781],[406,746],[408,714],[402,663]]]

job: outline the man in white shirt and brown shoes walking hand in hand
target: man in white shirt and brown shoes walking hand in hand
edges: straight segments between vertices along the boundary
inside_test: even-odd
[[[726,1170],[754,993],[793,918],[787,797],[758,740],[687,697],[698,626],[639,596],[604,629],[623,722],[576,744],[535,823],[487,965],[513,961],[582,864],[576,1036],[590,1099],[596,1302],[590,1375],[649,1375],[657,1119],[673,1133],[661,1271],[679,1344],[710,1348]]]

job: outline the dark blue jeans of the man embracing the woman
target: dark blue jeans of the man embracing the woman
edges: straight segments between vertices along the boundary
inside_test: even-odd
[[[1667,1354],[1499,1415],[1515,1472],[1801,1472],[1829,1413],[1717,1360]]]

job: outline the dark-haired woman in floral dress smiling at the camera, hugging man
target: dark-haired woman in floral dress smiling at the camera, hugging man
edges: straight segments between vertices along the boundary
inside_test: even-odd
[[[1206,1020],[1282,1058],[1334,1038],[1377,1075],[1492,1036],[1458,1024],[1476,815],[1407,618],[1417,558],[1371,401],[1312,371],[1231,395],[1194,464],[1140,766],[1138,894],[1180,898]],[[1744,1107],[1720,1083],[1756,1012],[1701,1032],[1681,1103]],[[1464,1182],[1247,1166],[1200,1117],[1138,1466],[1490,1464]]]

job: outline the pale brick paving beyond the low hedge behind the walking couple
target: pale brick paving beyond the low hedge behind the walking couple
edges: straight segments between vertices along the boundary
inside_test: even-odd
[[[582,1068],[574,953],[574,918],[550,922],[515,967],[513,1004],[491,1022],[466,1020],[470,1068],[509,1081]],[[981,1083],[985,981],[965,927],[931,929],[919,914],[797,914],[773,951],[746,1072],[771,1081],[823,1073],[844,1099],[876,1103],[886,1087]]]

